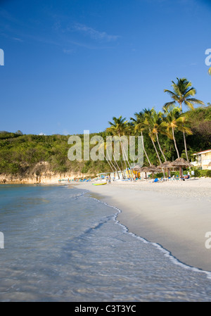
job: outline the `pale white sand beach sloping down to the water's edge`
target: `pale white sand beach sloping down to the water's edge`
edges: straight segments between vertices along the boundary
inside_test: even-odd
[[[205,234],[211,232],[211,178],[76,185],[122,210],[117,220],[129,232],[162,245],[186,265],[211,271],[211,248],[205,247]]]

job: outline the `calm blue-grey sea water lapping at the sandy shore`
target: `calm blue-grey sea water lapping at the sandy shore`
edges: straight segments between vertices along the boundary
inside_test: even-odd
[[[68,185],[1,185],[0,301],[210,301],[209,272],[129,233],[119,212]]]

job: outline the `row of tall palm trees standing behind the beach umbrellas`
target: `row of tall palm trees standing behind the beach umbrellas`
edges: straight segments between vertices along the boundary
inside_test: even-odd
[[[160,136],[165,135],[165,137],[174,142],[174,151],[176,151],[177,158],[180,158],[184,156],[181,155],[181,153],[183,153],[181,145],[178,146],[177,144],[177,135],[179,134],[178,132],[181,132],[184,140],[185,158],[189,162],[191,155],[190,153],[188,155],[186,135],[193,135],[193,130],[191,129],[191,124],[193,125],[191,112],[195,110],[194,105],[204,106],[204,102],[195,98],[196,89],[192,87],[191,82],[186,78],[177,78],[177,82],[172,81],[172,90],[165,89],[164,91],[170,95],[171,99],[165,103],[162,107],[162,111],[157,112],[154,108],[143,108],[140,112],[134,113],[134,118],[130,118],[129,121],[127,121],[126,118],[122,118],[122,115],[120,115],[119,118],[113,117],[113,122],[108,122],[110,127],[108,127],[107,132],[111,132],[111,134],[118,135],[119,137],[131,134],[141,134],[143,137],[144,133],[148,139],[151,139],[160,165],[162,164],[162,160],[164,162],[167,161],[165,151],[160,144]],[[188,108],[188,113],[184,113],[184,106]],[[210,104],[208,104],[208,107],[210,108]],[[207,133],[210,135],[211,127],[209,115],[207,122],[209,122],[207,125]],[[143,152],[148,165],[152,165],[155,159],[153,158],[152,161],[149,158],[145,146],[146,137],[143,138]],[[210,144],[210,137],[208,144]],[[179,149],[181,149],[180,152]],[[123,148],[122,156],[124,156]],[[168,155],[168,158],[170,158],[170,155]],[[128,160],[127,163],[129,165]]]

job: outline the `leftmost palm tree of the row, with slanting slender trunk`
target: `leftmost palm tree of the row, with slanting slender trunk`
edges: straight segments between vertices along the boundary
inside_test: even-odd
[[[121,149],[122,149],[122,157],[123,157],[123,160],[124,160],[127,172],[129,174],[129,177],[131,178],[130,172],[129,172],[128,167],[127,167],[127,163],[129,165],[130,170],[132,170],[132,168],[131,168],[131,166],[129,164],[129,160],[127,158],[127,155],[126,155],[125,150],[124,150],[124,146],[123,146],[122,141],[121,141],[121,136],[123,136],[127,132],[127,121],[126,121],[126,118],[122,118],[122,115],[120,115],[119,118],[115,118],[115,116],[114,116],[113,117],[113,122],[108,122],[108,123],[110,124],[110,127],[108,127],[107,130],[109,132],[112,132],[113,135],[117,135],[120,138],[120,146],[121,146]],[[127,163],[126,163],[126,161],[127,161]],[[124,170],[123,170],[123,172],[124,172]]]

